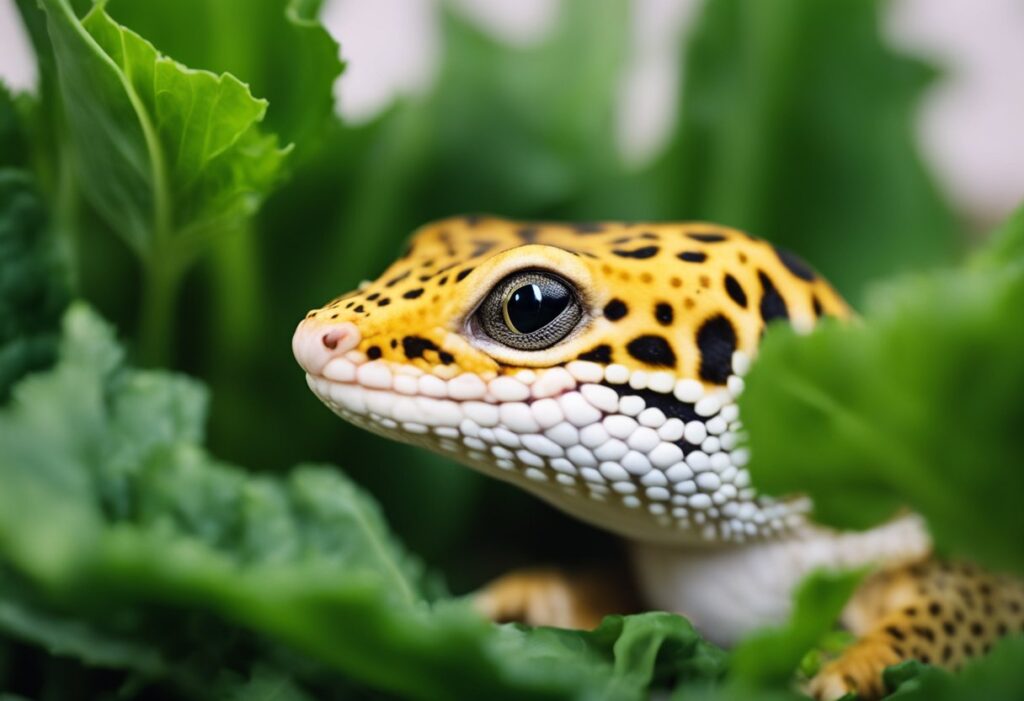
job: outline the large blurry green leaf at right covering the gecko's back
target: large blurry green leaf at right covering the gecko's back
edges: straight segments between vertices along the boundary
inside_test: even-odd
[[[1022,231],[988,264],[877,286],[862,323],[771,330],[740,400],[755,484],[845,528],[909,507],[947,554],[1024,571]]]

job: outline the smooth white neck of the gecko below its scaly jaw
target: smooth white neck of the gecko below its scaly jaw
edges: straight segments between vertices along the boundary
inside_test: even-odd
[[[867,531],[808,527],[785,538],[714,549],[632,543],[647,603],[686,616],[720,645],[784,621],[793,589],[812,570],[890,566],[930,551],[914,515]]]

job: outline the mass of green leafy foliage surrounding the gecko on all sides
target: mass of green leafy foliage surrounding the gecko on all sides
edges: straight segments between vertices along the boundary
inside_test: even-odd
[[[0,91],[0,395],[30,373],[0,409],[4,687],[799,698],[793,672],[853,579],[810,579],[793,621],[731,656],[669,614],[588,633],[486,624],[437,571],[464,592],[516,564],[607,561],[616,545],[338,422],[288,339],[307,308],[375,276],[413,228],[464,212],[715,219],[800,251],[854,300],[879,275],[949,262],[957,226],[912,136],[930,72],[884,44],[883,3],[706,0],[669,145],[639,167],[614,145],[625,0],[565,0],[528,47],[441,5],[435,83],[362,125],[334,116],[343,67],[316,0],[17,5],[40,86]],[[213,137],[203,147],[199,132]],[[778,371],[755,373],[744,407],[759,484],[809,489],[843,524],[909,503],[950,552],[1019,567],[1020,490],[1005,469],[1022,418],[1015,231],[965,269],[888,286],[863,328],[772,332],[759,367]],[[81,304],[61,336],[69,290],[114,321],[135,364],[203,378],[209,448],[208,391],[133,369]],[[822,387],[843,411],[808,403]],[[325,467],[259,474],[342,455],[352,481]],[[980,456],[977,475],[956,470]],[[983,509],[991,519],[973,518]],[[1019,697],[1021,656],[1009,641],[953,681],[905,665],[891,688]]]

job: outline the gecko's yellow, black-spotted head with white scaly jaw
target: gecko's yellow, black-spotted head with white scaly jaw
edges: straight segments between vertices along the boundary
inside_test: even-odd
[[[710,224],[417,231],[293,350],[343,419],[652,541],[744,540],[804,507],[750,485],[735,399],[765,324],[847,307],[792,255]]]

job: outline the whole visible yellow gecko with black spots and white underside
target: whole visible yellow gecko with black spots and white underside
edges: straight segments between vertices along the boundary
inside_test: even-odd
[[[513,348],[532,338],[516,323],[535,312],[517,316],[509,309],[522,307],[508,300],[539,279],[555,280],[569,301],[537,332],[557,333]],[[872,580],[849,607],[861,642],[811,687],[828,698],[878,695],[888,664],[926,656],[958,664],[1020,628],[1022,596],[1010,580],[962,575],[961,588],[984,579],[998,599],[986,607],[974,597],[985,636],[965,643],[977,625],[946,620],[955,610],[967,616],[963,596],[943,589],[929,613],[938,600],[923,593],[934,568],[906,565],[928,552],[912,517],[865,536],[833,534],[807,522],[806,499],[773,500],[750,486],[734,401],[742,375],[769,321],[810,331],[822,316],[850,310],[800,259],[735,229],[464,217],[421,228],[376,281],[309,312],[293,347],[310,388],[345,420],[451,455],[635,541],[648,600],[703,618],[713,638],[716,621],[720,640],[739,632],[728,610],[743,612],[744,598],[757,613],[740,626],[783,616],[778,602],[813,566],[888,565],[890,583]],[[694,570],[753,584],[702,597],[691,590],[694,581],[707,588]],[[925,582],[909,598],[908,578]],[[773,586],[778,602],[761,594]],[[566,613],[582,609],[573,589],[567,578],[530,573],[480,601],[496,616],[591,622]],[[539,607],[539,597],[550,605]],[[529,615],[538,610],[546,613]],[[929,617],[928,632],[914,632]],[[908,643],[914,636],[928,645]]]

